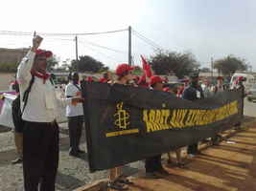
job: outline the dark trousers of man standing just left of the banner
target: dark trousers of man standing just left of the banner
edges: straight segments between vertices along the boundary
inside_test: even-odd
[[[68,130],[70,139],[70,150],[78,151],[81,139],[83,117],[68,117]]]

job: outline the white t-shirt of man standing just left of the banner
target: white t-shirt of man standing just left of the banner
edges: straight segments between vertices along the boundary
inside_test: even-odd
[[[77,85],[80,88],[80,85]],[[78,96],[81,90],[78,89],[72,82],[68,83],[65,89],[65,96]],[[77,103],[77,105],[67,105],[66,107],[66,117],[78,117],[83,116],[82,103]]]

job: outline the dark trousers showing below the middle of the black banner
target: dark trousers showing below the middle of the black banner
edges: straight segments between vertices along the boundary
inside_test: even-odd
[[[153,156],[145,160],[146,173],[153,173],[163,168],[161,163],[161,155]]]

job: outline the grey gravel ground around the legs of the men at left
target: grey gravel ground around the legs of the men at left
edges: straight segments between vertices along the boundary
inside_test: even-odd
[[[72,191],[94,180],[102,180],[108,176],[106,170],[89,172],[87,153],[81,158],[68,155],[69,136],[67,123],[59,124],[59,163],[56,181],[57,191]],[[10,128],[0,126],[0,191],[23,191],[22,164],[12,165],[16,158],[13,133]],[[86,151],[85,131],[81,137],[81,149]],[[136,174],[144,163],[137,161],[125,166],[126,174]]]

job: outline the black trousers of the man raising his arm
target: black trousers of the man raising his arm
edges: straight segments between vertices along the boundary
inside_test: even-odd
[[[55,191],[58,171],[58,124],[25,122],[23,133],[25,191]]]

